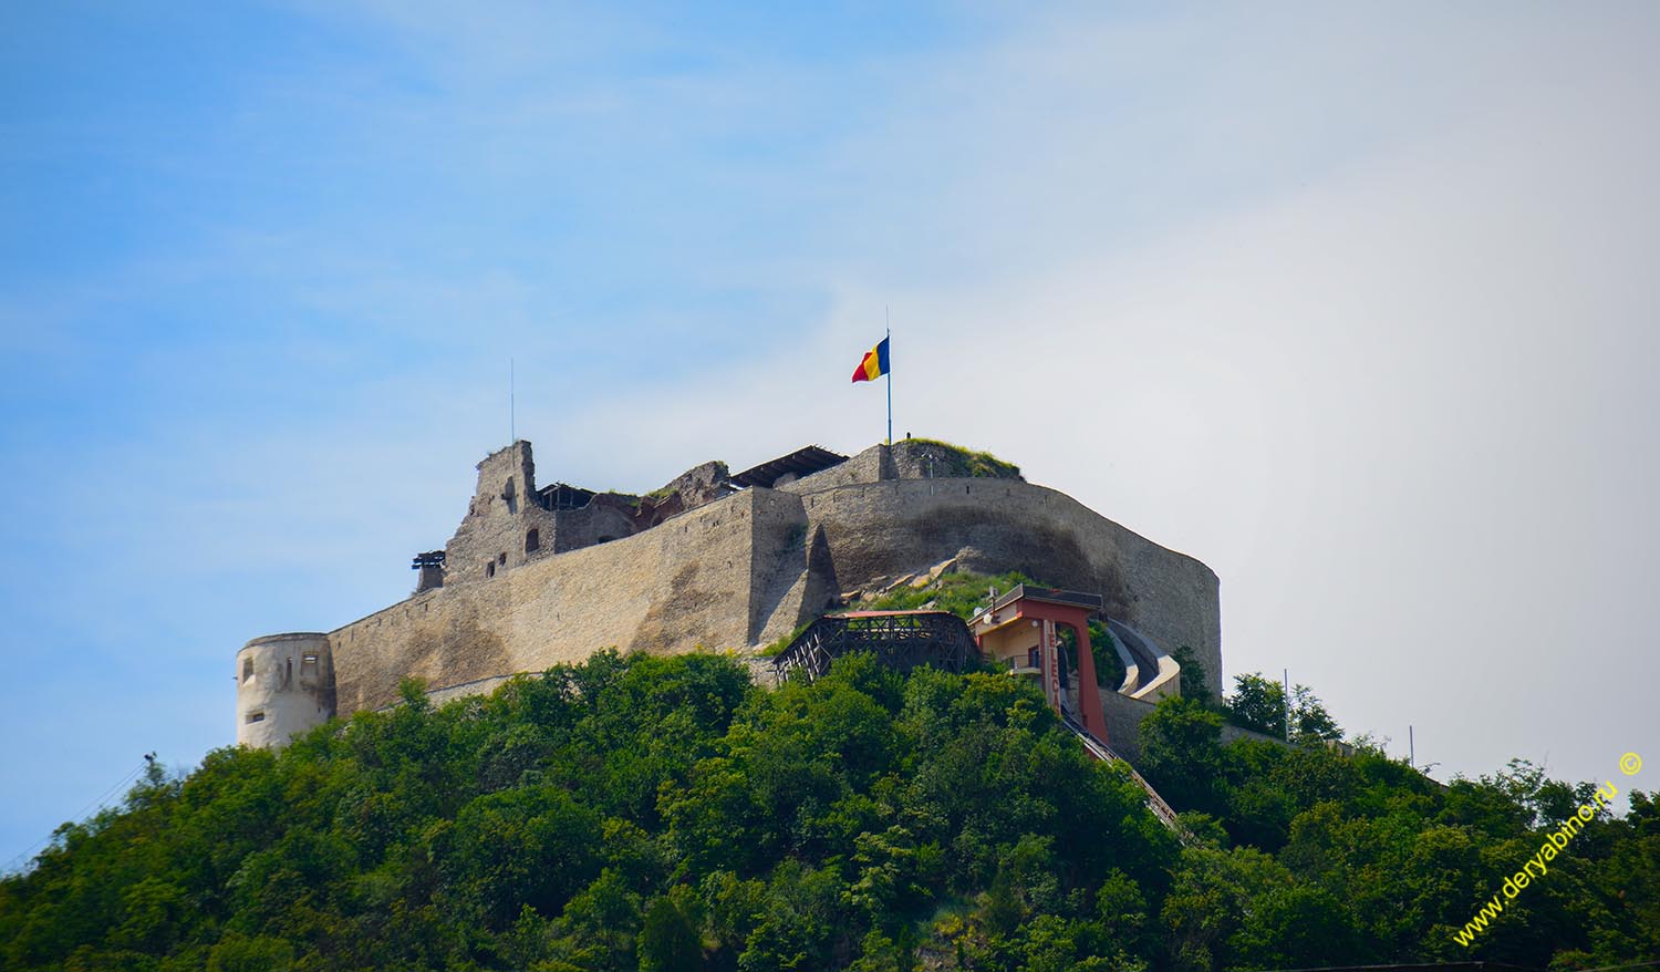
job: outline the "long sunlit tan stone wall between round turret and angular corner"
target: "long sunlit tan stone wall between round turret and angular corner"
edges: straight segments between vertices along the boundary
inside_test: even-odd
[[[749,645],[754,508],[745,490],[611,543],[447,583],[332,631],[339,711],[375,709],[415,676],[443,688],[583,661],[606,646]],[[780,513],[767,510],[770,522]],[[782,520],[780,520],[782,523]]]

